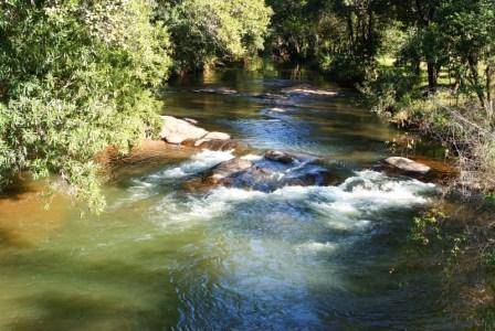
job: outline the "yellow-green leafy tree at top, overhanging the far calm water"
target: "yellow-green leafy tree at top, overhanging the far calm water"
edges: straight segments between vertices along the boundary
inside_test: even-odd
[[[164,0],[158,17],[171,33],[176,72],[188,72],[255,55],[271,14],[263,0]]]

